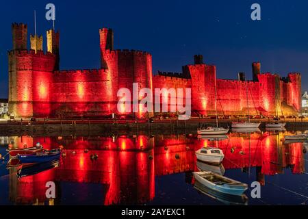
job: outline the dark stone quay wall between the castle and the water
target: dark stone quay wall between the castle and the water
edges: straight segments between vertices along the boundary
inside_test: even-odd
[[[253,122],[261,123],[259,129],[265,129],[265,124],[268,120],[252,120]],[[14,123],[0,124],[0,136],[21,136],[27,133],[30,136],[47,136],[47,135],[74,135],[74,136],[104,136],[108,134],[118,133],[196,133],[196,129],[206,123],[208,125],[215,125],[215,120],[192,119],[192,120],[157,120],[155,123],[133,123],[118,121],[118,123],[103,123],[102,121],[94,120],[66,120],[61,123],[42,123],[31,124],[21,123],[18,121]],[[303,122],[286,121],[285,129],[287,131],[306,131],[308,130],[308,120]],[[221,127],[231,126],[230,120],[221,120]]]

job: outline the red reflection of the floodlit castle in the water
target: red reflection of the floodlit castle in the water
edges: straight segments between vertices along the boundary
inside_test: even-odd
[[[197,170],[194,151],[202,146],[222,149],[226,170],[256,167],[257,181],[264,185],[264,175],[281,174],[284,168],[291,168],[294,174],[305,172],[303,143],[283,144],[282,138],[281,134],[268,132],[231,133],[229,139],[219,142],[186,136],[14,137],[14,144],[10,145],[14,147],[36,142],[53,148],[63,145],[66,157],[60,168],[21,179],[12,174],[16,169],[11,169],[10,200],[44,203],[45,184],[55,181],[55,203],[60,201],[62,182],[101,184],[102,205],[147,203],[155,196],[155,176]],[[91,155],[98,155],[98,159],[92,161]],[[186,175],[186,181],[192,183],[192,177]]]

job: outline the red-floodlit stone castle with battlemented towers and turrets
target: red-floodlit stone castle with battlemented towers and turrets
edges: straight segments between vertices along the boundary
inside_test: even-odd
[[[239,73],[238,80],[216,79],[216,66],[203,64],[202,55],[195,55],[194,64],[183,66],[182,73],[153,75],[150,53],[114,50],[114,33],[103,28],[99,30],[101,68],[60,70],[59,32],[47,31],[47,52],[42,49],[42,36],[36,35],[30,36],[31,49],[27,49],[27,25],[23,23],[12,24],[12,36],[13,49],[8,52],[9,112],[16,118],[120,114],[118,89],[132,90],[133,83],[140,89],[191,88],[193,116],[215,113],[215,88],[219,114],[300,112],[300,74],[280,77],[261,73],[259,62],[253,63],[253,81],[246,81],[244,73]]]

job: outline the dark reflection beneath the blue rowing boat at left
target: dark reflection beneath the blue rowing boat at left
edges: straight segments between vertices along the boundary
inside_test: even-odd
[[[52,168],[56,168],[59,166],[60,166],[59,159],[55,159],[50,162],[38,163],[31,166],[25,166],[25,167],[23,166],[21,169],[18,170],[17,177],[18,178],[29,177],[32,175],[36,175],[40,172],[43,172],[45,170],[50,170]]]

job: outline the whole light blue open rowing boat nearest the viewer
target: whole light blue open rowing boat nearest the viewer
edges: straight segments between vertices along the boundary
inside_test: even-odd
[[[217,175],[214,172],[193,172],[193,175],[196,181],[205,187],[224,194],[241,196],[248,189],[247,184]]]

